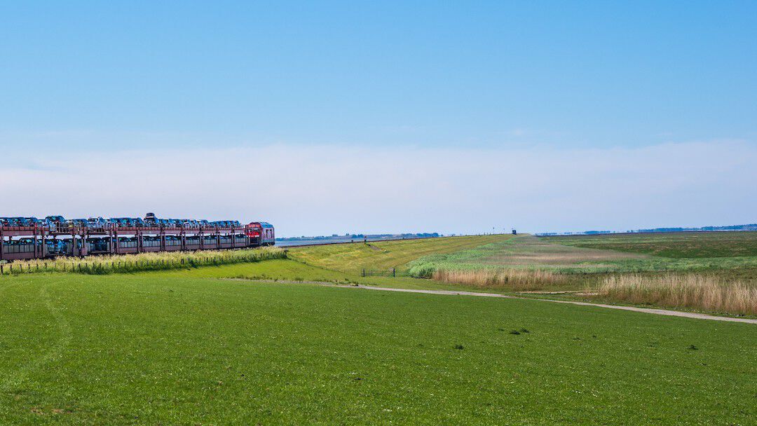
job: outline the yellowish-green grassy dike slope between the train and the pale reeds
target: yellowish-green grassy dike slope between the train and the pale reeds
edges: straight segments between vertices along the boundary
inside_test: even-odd
[[[506,241],[512,235],[478,235],[471,237],[425,238],[407,241],[382,241],[332,244],[311,247],[289,247],[288,257],[321,268],[341,272],[360,273],[363,269],[396,268],[407,271],[407,263],[435,253],[453,253],[496,241]]]

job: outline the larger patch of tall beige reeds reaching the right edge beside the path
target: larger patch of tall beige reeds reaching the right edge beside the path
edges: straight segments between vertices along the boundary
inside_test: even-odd
[[[757,287],[722,281],[714,275],[615,275],[605,278],[596,291],[602,297],[629,303],[757,315]]]

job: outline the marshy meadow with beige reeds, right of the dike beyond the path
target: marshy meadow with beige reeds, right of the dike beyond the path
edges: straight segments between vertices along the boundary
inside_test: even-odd
[[[408,271],[481,289],[757,316],[755,244],[757,232],[522,235],[421,257]]]

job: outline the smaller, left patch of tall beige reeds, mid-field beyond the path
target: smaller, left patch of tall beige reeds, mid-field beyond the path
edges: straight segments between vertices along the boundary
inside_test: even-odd
[[[544,290],[549,286],[565,282],[560,274],[540,270],[523,269],[474,269],[447,270],[438,269],[431,278],[478,288],[503,288],[512,291]]]

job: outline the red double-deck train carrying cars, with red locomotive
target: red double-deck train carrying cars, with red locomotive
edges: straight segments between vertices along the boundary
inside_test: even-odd
[[[220,250],[276,243],[273,225],[236,220],[0,217],[0,261],[58,256]]]

